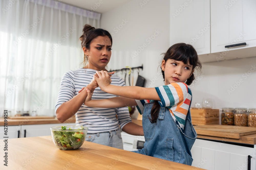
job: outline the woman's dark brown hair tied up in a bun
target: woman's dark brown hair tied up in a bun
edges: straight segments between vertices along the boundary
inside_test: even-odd
[[[111,45],[112,45],[112,37],[110,35],[110,33],[106,30],[97,28],[95,29],[94,27],[92,27],[91,25],[85,24],[83,26],[83,35],[80,36],[79,40],[81,40],[81,47],[85,47],[86,49],[90,49],[90,44],[92,42],[92,40],[94,38],[97,38],[98,36],[108,36],[110,41],[111,41]],[[86,65],[88,58],[86,58],[85,54],[84,54],[84,59],[83,59],[83,65]]]

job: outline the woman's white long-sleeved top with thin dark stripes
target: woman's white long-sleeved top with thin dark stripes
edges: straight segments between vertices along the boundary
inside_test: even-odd
[[[60,90],[57,98],[56,110],[60,105],[78,94],[82,87],[86,87],[93,78],[96,70],[92,69],[78,69],[76,71],[68,71],[65,73],[60,82]],[[111,85],[125,86],[124,81],[112,75]],[[92,99],[107,99],[117,97],[102,91],[99,87],[95,88]],[[116,119],[116,114],[118,119]],[[109,132],[118,129],[118,125],[123,128],[124,125],[131,122],[131,117],[127,107],[122,108],[92,108],[84,104],[76,113],[76,125],[88,127],[88,133]]]

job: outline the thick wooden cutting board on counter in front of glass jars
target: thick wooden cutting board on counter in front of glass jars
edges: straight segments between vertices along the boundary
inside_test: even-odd
[[[194,126],[198,135],[217,136],[240,139],[240,136],[256,134],[256,127],[230,125],[199,125]]]

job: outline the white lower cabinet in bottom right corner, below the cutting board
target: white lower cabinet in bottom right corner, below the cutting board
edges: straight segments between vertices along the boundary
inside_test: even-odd
[[[253,147],[249,147],[253,146]],[[192,149],[192,166],[208,170],[256,169],[255,145],[233,145],[225,142],[196,139]],[[249,160],[248,168],[248,156]]]

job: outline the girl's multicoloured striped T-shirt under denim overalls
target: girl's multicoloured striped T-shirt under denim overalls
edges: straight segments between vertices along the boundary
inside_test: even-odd
[[[176,124],[184,129],[186,116],[189,110],[192,98],[191,90],[185,83],[171,83],[169,85],[155,87],[161,101],[158,101],[161,107],[167,107]],[[152,101],[136,100],[137,108],[143,114],[144,104]]]

